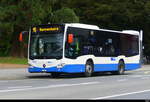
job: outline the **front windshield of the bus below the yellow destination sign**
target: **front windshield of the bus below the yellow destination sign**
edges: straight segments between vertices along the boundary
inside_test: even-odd
[[[63,32],[31,33],[30,59],[61,59]]]

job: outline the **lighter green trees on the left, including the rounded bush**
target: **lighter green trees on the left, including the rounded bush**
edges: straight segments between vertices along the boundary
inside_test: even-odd
[[[21,31],[28,31],[32,25],[51,22],[52,6],[57,0],[1,0],[0,1],[0,56],[22,56],[22,44],[18,41]],[[73,10],[62,8],[54,11],[62,22],[78,22]],[[61,14],[61,15],[60,15]],[[70,19],[68,19],[68,16]],[[59,20],[54,19],[53,23]]]

